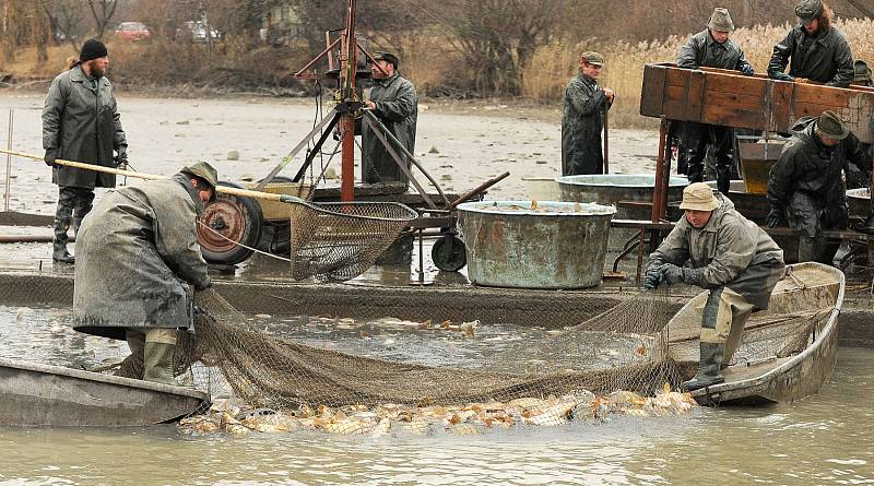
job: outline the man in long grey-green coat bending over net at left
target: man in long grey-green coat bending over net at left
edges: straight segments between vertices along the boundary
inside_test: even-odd
[[[205,162],[168,180],[129,186],[104,197],[82,223],[73,288],[74,329],[127,340],[143,379],[176,384],[178,329],[192,323],[190,287],[211,285],[197,221],[215,200],[218,176]]]

